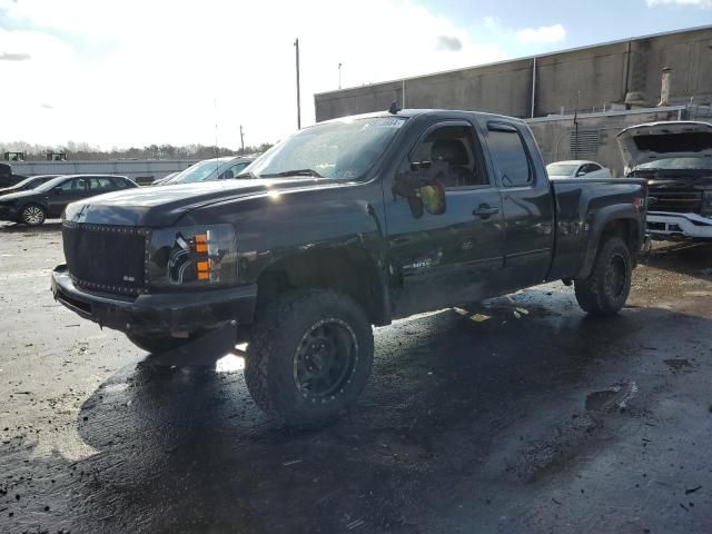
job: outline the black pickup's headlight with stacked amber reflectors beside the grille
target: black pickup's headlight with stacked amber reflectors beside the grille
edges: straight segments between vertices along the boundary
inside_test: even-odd
[[[151,287],[226,286],[237,281],[237,245],[231,225],[154,230],[148,248]]]

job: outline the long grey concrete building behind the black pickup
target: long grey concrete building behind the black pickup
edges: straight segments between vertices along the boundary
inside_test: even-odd
[[[532,119],[547,162],[597,158],[620,175],[621,128],[712,117],[712,26],[322,92],[316,120],[385,110],[394,100]]]

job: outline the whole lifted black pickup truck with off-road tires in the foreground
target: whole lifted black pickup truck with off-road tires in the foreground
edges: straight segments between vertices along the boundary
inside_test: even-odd
[[[372,325],[556,279],[616,314],[644,236],[644,180],[550,180],[495,115],[322,122],[240,178],[71,204],[52,290],[152,353],[233,328],[254,399],[289,425],[356,400]]]

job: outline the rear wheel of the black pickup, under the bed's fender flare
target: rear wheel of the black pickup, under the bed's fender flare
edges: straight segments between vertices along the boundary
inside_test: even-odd
[[[591,275],[575,280],[576,300],[589,315],[617,314],[631,291],[633,259],[625,241],[605,237],[599,247]]]

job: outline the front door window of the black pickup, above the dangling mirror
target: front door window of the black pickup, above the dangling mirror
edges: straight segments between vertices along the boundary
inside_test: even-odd
[[[475,148],[471,126],[442,126],[431,131],[411,152],[411,162],[443,161],[447,170],[442,178],[445,188],[477,187],[488,184],[483,171],[482,154]]]

